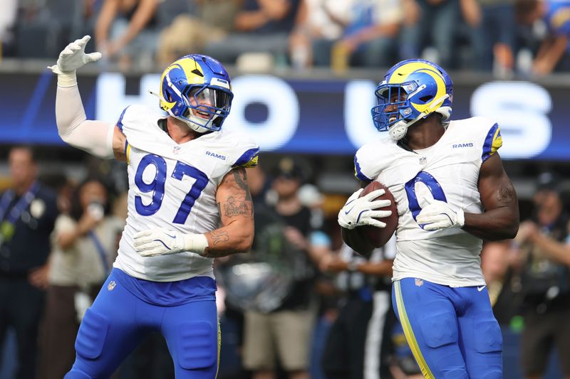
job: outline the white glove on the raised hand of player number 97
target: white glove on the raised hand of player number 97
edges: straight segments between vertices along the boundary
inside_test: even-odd
[[[73,41],[61,53],[59,53],[58,61],[53,66],[48,66],[53,73],[58,75],[58,85],[75,85],[76,70],[90,62],[95,62],[101,58],[101,53],[85,53],[85,46],[91,39],[90,36]],[[60,82],[60,78],[63,77]]]

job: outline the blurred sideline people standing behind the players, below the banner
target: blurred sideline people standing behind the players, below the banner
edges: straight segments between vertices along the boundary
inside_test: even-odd
[[[214,263],[218,377],[421,378],[390,306],[395,241],[369,260],[353,252],[336,223],[346,194],[319,191],[318,162],[261,158],[247,171],[252,252]],[[79,322],[116,257],[126,218],[125,167],[90,158],[86,177],[76,181],[42,174],[28,146],[11,147],[8,160],[0,213],[14,203],[21,215],[10,211],[0,225],[0,378],[59,379],[73,363]],[[28,192],[19,191],[30,183]],[[532,199],[522,202],[517,237],[484,244],[504,378],[569,375],[569,189],[559,174],[541,174]],[[113,378],[174,378],[163,338],[143,341]]]

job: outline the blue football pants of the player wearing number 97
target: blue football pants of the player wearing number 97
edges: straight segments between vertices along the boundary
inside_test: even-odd
[[[65,379],[109,378],[152,331],[165,337],[177,379],[214,379],[219,325],[215,301],[157,306],[142,301],[115,279],[103,284],[76,338],[76,361]]]

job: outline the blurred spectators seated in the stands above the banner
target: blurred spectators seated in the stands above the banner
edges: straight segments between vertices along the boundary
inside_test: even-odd
[[[570,68],[556,0],[3,0],[3,54],[55,58],[85,34],[102,65],[162,69],[189,52],[243,70],[388,68],[426,58],[499,78]]]

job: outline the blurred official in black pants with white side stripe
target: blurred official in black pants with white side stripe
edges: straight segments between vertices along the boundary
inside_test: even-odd
[[[319,268],[336,274],[345,294],[328,333],[321,365],[328,379],[379,379],[388,375],[390,331],[398,322],[391,309],[395,236],[367,260],[343,244],[321,257]]]

